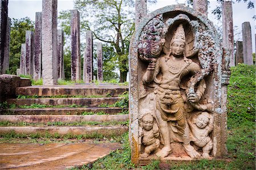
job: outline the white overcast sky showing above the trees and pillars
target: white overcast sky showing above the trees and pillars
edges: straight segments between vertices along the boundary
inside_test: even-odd
[[[256,7],[255,0],[251,0],[254,2],[254,6]],[[149,11],[154,11],[161,7],[167,5],[173,5],[179,3],[185,3],[184,0],[158,0],[155,5],[148,6]],[[220,22],[217,22],[214,19],[213,14],[211,14],[212,9],[216,6],[216,1],[210,1],[210,7],[208,9],[208,18],[214,22],[214,25],[220,26]],[[235,40],[242,40],[242,23],[250,22],[251,24],[251,33],[253,38],[253,52],[255,52],[255,20],[252,19],[253,15],[256,15],[255,8],[247,9],[247,3],[234,3],[233,4],[233,25],[235,32]],[[73,9],[73,1],[68,0],[59,0],[58,1],[58,11],[61,10],[72,10]],[[10,18],[24,18],[28,16],[31,20],[35,20],[35,13],[42,11],[42,1],[40,0],[9,0],[9,17]]]

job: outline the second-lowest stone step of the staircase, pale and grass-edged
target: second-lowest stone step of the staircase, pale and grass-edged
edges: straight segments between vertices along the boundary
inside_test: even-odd
[[[128,114],[120,115],[0,115],[0,121],[11,123],[47,123],[47,122],[110,122],[110,121],[127,121]]]

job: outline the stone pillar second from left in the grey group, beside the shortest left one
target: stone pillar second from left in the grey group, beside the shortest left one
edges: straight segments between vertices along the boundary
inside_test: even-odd
[[[33,76],[34,71],[34,32],[26,31],[26,63],[25,74]]]

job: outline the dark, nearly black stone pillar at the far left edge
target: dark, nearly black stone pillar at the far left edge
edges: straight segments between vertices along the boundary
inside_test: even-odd
[[[0,2],[0,74],[9,69],[11,19],[8,18],[8,0]]]

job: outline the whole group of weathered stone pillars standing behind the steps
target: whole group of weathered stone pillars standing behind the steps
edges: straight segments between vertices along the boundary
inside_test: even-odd
[[[42,13],[36,13],[35,33],[26,31],[26,43],[22,44],[20,74],[30,74],[35,80],[43,78],[44,85],[57,84],[64,79],[63,30],[57,30],[57,1],[43,0]],[[102,44],[97,43],[98,75],[102,76]],[[71,11],[71,80],[93,80],[93,35],[86,32],[84,74],[81,78],[80,14]]]

